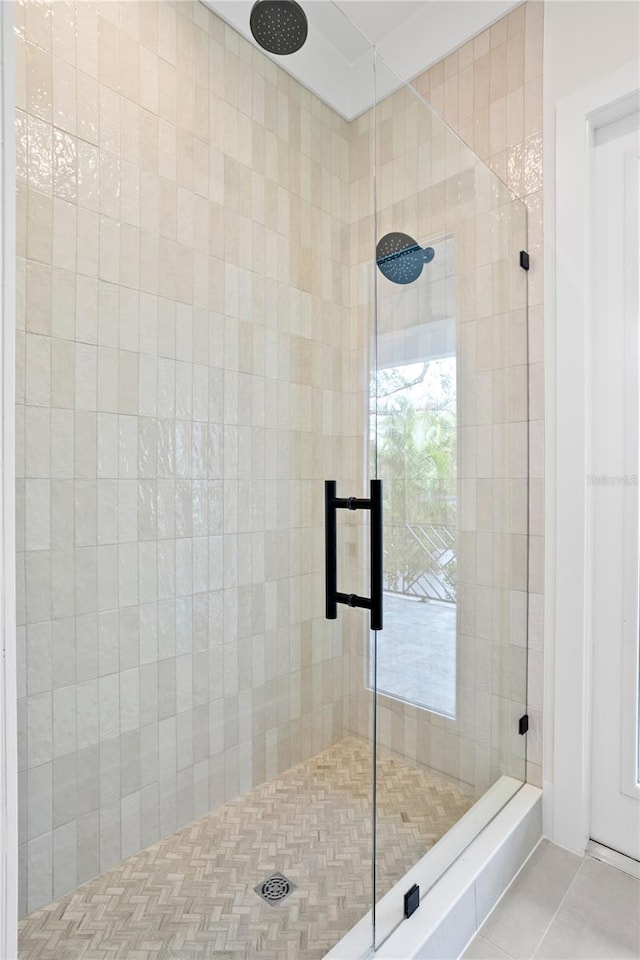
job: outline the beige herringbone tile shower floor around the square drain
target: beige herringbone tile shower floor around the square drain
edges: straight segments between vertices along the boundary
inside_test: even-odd
[[[378,782],[383,893],[473,797],[395,757]],[[20,960],[322,957],[370,908],[371,834],[371,749],[347,737],[31,914]],[[275,872],[297,889],[270,906]]]

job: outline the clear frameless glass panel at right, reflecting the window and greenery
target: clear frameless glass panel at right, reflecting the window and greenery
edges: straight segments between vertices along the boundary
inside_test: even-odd
[[[363,688],[380,944],[403,918],[399,875],[445,837],[453,860],[474,803],[490,791],[493,816],[525,779],[528,376],[524,204],[380,57],[376,82],[385,619]]]

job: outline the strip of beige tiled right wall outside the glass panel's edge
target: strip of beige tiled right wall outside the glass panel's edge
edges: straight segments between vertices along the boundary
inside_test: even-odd
[[[542,786],[544,603],[543,17],[541,0],[527,0],[414,81],[418,92],[527,207],[531,255],[527,779],[535,786]]]

